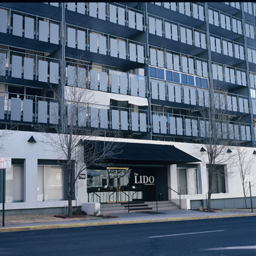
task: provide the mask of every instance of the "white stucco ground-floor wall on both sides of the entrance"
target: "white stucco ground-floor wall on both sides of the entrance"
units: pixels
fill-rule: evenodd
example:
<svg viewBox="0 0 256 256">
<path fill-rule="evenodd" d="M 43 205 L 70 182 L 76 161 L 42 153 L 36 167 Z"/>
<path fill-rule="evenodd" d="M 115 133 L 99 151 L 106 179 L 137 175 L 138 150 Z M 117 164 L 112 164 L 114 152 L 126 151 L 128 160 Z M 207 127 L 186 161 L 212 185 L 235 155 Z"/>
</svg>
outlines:
<svg viewBox="0 0 256 256">
<path fill-rule="evenodd" d="M 28 139 L 30 136 L 33 136 L 36 140 L 36 143 L 29 143 Z M 37 202 L 37 160 L 38 159 L 47 159 L 47 160 L 58 160 L 59 153 L 54 151 L 52 147 L 43 143 L 45 136 L 42 133 L 34 132 L 25 132 L 25 131 L 14 131 L 11 136 L 8 136 L 3 141 L 4 148 L 0 153 L 1 157 L 11 157 L 11 158 L 22 158 L 25 159 L 24 162 L 24 182 L 25 182 L 25 191 L 24 191 L 24 202 L 17 203 L 6 203 L 5 209 L 32 209 L 32 208 L 56 208 L 64 207 L 67 201 L 49 201 L 49 202 Z M 97 138 L 103 140 L 104 138 Z M 164 144 L 164 145 L 175 145 L 176 148 L 193 155 L 198 159 L 203 159 L 206 156 L 200 153 L 199 144 L 186 144 L 179 142 L 158 142 L 158 141 L 149 141 L 149 140 L 131 140 L 131 139 L 112 139 L 120 142 L 133 142 L 140 144 Z M 230 147 L 232 151 L 235 151 Z M 248 156 L 253 153 L 253 148 L 246 148 L 248 151 Z M 256 156 L 255 156 L 256 158 Z M 64 159 L 64 158 L 62 158 Z M 82 159 L 80 159 L 83 162 Z M 233 169 L 233 163 L 235 159 L 231 159 L 226 162 L 228 171 Z M 80 163 L 77 163 L 78 166 Z M 202 200 L 207 198 L 208 183 L 206 176 L 206 165 L 203 162 L 198 162 L 198 187 L 199 194 L 197 195 L 182 195 L 182 198 L 189 198 L 189 200 Z M 176 165 L 170 165 L 168 167 L 169 176 L 168 176 L 168 185 L 172 189 L 178 191 L 177 186 L 177 173 Z M 256 168 L 253 169 L 253 175 L 256 179 Z M 85 171 L 83 172 L 85 173 Z M 211 198 L 243 198 L 242 193 L 242 184 L 240 181 L 239 173 L 234 173 L 233 177 L 228 177 L 226 180 L 226 191 L 227 193 L 213 194 Z M 251 188 L 251 193 L 253 197 L 256 197 L 256 187 Z M 178 195 L 176 193 L 169 191 L 169 198 L 177 199 Z M 73 200 L 72 206 L 81 206 L 83 203 L 87 202 L 87 184 L 86 180 L 78 180 L 78 186 L 76 190 L 76 200 Z M 2 204 L 0 204 L 0 209 L 2 209 Z"/>
</svg>

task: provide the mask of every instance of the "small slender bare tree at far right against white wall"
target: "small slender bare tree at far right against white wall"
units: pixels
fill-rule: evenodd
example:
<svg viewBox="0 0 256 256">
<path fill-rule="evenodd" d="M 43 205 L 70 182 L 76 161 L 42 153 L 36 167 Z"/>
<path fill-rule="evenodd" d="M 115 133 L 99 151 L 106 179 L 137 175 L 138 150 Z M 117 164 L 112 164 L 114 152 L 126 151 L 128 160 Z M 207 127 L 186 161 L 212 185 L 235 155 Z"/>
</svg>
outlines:
<svg viewBox="0 0 256 256">
<path fill-rule="evenodd" d="M 246 176 L 251 176 L 253 173 L 253 167 L 255 167 L 255 156 L 248 153 L 248 149 L 245 147 L 236 147 L 237 150 L 237 161 L 235 165 L 240 175 L 240 180 L 242 182 L 242 191 L 244 193 L 244 203 L 247 208 L 246 197 L 248 195 L 249 181 Z M 255 186 L 256 182 L 253 180 L 251 187 Z"/>
</svg>

